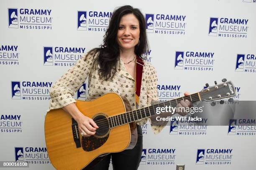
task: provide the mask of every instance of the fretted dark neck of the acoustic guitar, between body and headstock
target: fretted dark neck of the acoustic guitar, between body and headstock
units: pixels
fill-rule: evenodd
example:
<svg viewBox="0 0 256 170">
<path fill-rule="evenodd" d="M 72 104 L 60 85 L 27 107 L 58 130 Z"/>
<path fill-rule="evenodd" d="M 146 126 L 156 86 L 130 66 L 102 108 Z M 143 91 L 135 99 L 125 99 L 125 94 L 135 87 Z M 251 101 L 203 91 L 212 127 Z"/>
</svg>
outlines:
<svg viewBox="0 0 256 170">
<path fill-rule="evenodd" d="M 121 126 L 123 124 L 135 122 L 137 120 L 156 115 L 157 114 L 156 108 L 158 107 L 177 107 L 179 102 L 182 100 L 189 100 L 190 102 L 196 102 L 196 101 L 200 101 L 201 98 L 199 93 L 195 93 L 195 94 L 180 97 L 177 99 L 154 104 L 149 107 L 143 107 L 140 109 L 132 110 L 130 112 L 125 112 L 112 117 L 108 117 L 110 128 Z"/>
</svg>

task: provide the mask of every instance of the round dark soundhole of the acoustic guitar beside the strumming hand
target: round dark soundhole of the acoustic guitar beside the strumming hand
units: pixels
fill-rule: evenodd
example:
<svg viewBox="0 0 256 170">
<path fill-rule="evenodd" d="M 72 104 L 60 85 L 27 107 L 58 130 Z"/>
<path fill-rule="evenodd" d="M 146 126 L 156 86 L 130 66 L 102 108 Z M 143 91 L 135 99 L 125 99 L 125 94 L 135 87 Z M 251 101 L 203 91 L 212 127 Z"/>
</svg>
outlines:
<svg viewBox="0 0 256 170">
<path fill-rule="evenodd" d="M 95 133 L 94 136 L 95 137 L 105 137 L 108 134 L 109 130 L 110 130 L 110 127 L 109 127 L 109 124 L 108 124 L 108 118 L 105 117 L 104 115 L 100 114 L 100 115 L 97 115 L 96 117 L 94 117 L 93 121 L 99 127 L 96 130 L 96 133 Z"/>
</svg>

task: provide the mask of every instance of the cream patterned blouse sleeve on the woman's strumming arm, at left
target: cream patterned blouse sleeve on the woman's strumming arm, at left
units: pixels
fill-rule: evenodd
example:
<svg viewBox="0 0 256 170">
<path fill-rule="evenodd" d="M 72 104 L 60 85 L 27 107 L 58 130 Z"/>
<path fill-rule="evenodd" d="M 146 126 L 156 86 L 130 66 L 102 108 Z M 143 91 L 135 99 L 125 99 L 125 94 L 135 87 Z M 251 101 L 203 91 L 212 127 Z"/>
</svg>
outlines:
<svg viewBox="0 0 256 170">
<path fill-rule="evenodd" d="M 59 109 L 76 102 L 72 97 L 82 86 L 91 72 L 94 56 L 92 52 L 84 54 L 77 63 L 59 78 L 50 90 L 51 109 Z M 48 110 L 48 111 L 49 111 Z"/>
</svg>

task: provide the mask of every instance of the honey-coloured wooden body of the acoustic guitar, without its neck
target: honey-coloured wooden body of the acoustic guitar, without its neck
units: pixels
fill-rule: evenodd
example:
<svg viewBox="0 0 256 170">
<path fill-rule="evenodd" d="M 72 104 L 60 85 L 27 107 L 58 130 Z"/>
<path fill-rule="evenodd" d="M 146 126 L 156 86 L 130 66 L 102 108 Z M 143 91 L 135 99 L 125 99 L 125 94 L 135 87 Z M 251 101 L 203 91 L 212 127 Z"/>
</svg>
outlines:
<svg viewBox="0 0 256 170">
<path fill-rule="evenodd" d="M 104 117 L 106 121 L 108 116 L 131 110 L 124 98 L 109 93 L 92 101 L 77 101 L 76 105 L 82 114 L 94 119 L 99 129 L 95 136 L 82 137 L 70 114 L 63 109 L 49 111 L 44 126 L 46 147 L 51 163 L 57 170 L 86 169 L 108 153 L 132 149 L 136 145 L 135 122 L 112 129 L 100 123 Z"/>
</svg>

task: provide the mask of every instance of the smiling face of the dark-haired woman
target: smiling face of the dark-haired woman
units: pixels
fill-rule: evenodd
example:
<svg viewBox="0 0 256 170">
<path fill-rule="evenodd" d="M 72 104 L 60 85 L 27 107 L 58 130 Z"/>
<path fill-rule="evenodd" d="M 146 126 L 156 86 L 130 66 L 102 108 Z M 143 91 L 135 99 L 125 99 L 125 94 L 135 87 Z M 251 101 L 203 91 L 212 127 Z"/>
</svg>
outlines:
<svg viewBox="0 0 256 170">
<path fill-rule="evenodd" d="M 140 38 L 139 21 L 133 14 L 123 15 L 120 20 L 117 41 L 122 50 L 131 50 L 138 44 Z"/>
</svg>

